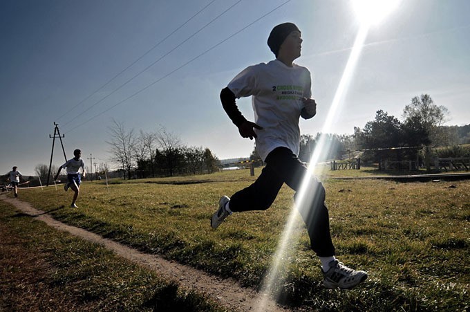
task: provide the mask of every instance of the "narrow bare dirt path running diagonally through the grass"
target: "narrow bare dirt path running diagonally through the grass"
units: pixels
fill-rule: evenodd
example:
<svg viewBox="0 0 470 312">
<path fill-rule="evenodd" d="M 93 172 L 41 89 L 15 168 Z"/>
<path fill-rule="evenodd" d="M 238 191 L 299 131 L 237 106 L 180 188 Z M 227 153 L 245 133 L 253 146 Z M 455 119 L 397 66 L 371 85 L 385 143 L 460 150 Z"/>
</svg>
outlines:
<svg viewBox="0 0 470 312">
<path fill-rule="evenodd" d="M 57 230 L 69 232 L 87 241 L 102 244 L 106 248 L 113 250 L 117 255 L 149 268 L 164 278 L 178 282 L 183 288 L 206 293 L 213 300 L 232 311 L 288 311 L 275 304 L 273 300 L 270 300 L 265 295 L 257 293 L 254 289 L 239 286 L 234 279 L 221 279 L 220 277 L 208 275 L 201 270 L 168 261 L 158 255 L 142 253 L 82 228 L 68 226 L 53 219 L 46 212 L 33 208 L 24 201 L 11 199 L 4 195 L 1 195 L 0 199 L 14 205 L 17 209 L 31 217 L 44 221 L 48 226 Z M 263 308 L 259 308 L 260 302 L 263 302 Z"/>
</svg>

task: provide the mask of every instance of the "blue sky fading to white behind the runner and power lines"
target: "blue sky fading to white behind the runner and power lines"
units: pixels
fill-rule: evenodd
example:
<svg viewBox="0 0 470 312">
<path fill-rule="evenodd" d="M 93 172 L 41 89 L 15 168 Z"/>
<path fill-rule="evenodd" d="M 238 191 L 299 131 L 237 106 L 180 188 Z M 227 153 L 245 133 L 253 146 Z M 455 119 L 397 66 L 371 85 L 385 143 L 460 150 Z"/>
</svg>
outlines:
<svg viewBox="0 0 470 312">
<path fill-rule="evenodd" d="M 318 104 L 317 116 L 302 120 L 301 131 L 317 134 L 359 20 L 348 0 L 285 2 L 1 1 L 0 172 L 17 165 L 29 175 L 36 165 L 48 165 L 53 122 L 65 135 L 68 158 L 80 148 L 85 160 L 92 154 L 95 162 L 111 165 L 106 140 L 113 118 L 135 131 L 164 127 L 182 143 L 209 147 L 220 159 L 249 156 L 254 142 L 238 135 L 218 94 L 246 66 L 274 58 L 267 36 L 285 21 L 302 31 L 296 62 L 310 68 Z M 405 105 L 422 93 L 449 109 L 446 125 L 470 123 L 469 15 L 467 0 L 406 0 L 370 28 L 332 132 L 352 134 L 379 109 L 400 119 Z M 238 104 L 252 120 L 250 99 Z M 55 165 L 63 158 L 56 144 Z"/>
</svg>

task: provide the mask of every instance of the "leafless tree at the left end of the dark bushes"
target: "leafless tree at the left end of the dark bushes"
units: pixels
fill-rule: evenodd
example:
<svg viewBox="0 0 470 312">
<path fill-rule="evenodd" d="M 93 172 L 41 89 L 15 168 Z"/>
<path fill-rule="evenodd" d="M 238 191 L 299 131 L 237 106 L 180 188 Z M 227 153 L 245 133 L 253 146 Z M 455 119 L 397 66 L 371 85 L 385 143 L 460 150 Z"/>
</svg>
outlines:
<svg viewBox="0 0 470 312">
<path fill-rule="evenodd" d="M 126 131 L 124 122 L 118 122 L 113 119 L 113 125 L 109 127 L 111 131 L 111 140 L 108 143 L 111 146 L 112 160 L 120 164 L 124 170 L 124 178 L 131 178 L 131 170 L 135 162 L 135 143 L 136 137 L 134 129 Z"/>
</svg>

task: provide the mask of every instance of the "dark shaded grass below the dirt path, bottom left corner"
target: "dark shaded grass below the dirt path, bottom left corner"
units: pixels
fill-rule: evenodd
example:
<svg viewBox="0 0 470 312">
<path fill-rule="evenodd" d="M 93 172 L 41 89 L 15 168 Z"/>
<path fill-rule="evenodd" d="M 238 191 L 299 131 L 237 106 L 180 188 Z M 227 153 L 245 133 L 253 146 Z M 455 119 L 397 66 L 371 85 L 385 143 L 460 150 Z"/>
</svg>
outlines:
<svg viewBox="0 0 470 312">
<path fill-rule="evenodd" d="M 0 201 L 0 311 L 224 311 Z"/>
</svg>

